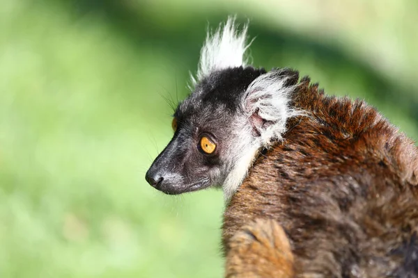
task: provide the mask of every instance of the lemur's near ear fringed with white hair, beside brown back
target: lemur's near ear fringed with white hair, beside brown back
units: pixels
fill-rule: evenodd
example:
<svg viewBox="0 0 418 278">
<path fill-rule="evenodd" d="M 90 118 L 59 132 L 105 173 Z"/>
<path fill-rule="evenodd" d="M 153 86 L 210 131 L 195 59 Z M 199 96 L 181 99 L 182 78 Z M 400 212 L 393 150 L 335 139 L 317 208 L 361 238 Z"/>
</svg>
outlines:
<svg viewBox="0 0 418 278">
<path fill-rule="evenodd" d="M 300 115 L 291 107 L 299 73 L 293 70 L 271 70 L 258 76 L 247 88 L 243 104 L 254 136 L 268 146 L 272 140 L 281 140 L 286 132 L 286 121 Z"/>
</svg>

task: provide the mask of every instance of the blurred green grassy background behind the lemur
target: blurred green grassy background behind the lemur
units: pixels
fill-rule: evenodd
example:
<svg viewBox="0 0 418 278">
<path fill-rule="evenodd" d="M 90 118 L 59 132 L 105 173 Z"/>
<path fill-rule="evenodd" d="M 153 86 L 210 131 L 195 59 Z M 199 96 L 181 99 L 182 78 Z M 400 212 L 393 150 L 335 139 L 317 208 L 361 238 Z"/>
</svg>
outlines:
<svg viewBox="0 0 418 278">
<path fill-rule="evenodd" d="M 418 138 L 418 2 L 3 0 L 0 277 L 222 277 L 222 193 L 144 181 L 206 28 Z"/>
</svg>

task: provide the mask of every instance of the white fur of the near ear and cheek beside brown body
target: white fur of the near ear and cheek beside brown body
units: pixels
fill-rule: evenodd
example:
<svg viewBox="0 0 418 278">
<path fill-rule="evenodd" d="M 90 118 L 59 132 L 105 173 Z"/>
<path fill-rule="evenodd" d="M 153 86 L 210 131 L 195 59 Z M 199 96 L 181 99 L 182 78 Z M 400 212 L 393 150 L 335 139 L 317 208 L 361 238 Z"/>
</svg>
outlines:
<svg viewBox="0 0 418 278">
<path fill-rule="evenodd" d="M 248 170 L 257 158 L 258 151 L 269 147 L 273 142 L 283 140 L 286 132 L 286 122 L 289 118 L 304 115 L 289 105 L 291 93 L 297 85 L 286 85 L 288 76 L 281 75 L 281 71 L 272 70 L 259 76 L 247 88 L 242 99 L 242 110 L 247 112 L 245 126 L 241 126 L 237 141 L 242 142 L 236 146 L 241 151 L 235 158 L 235 165 L 224 181 L 224 199 L 229 199 L 238 190 L 242 181 L 247 177 Z M 258 126 L 260 136 L 252 134 L 251 116 L 258 114 L 267 124 Z"/>
</svg>

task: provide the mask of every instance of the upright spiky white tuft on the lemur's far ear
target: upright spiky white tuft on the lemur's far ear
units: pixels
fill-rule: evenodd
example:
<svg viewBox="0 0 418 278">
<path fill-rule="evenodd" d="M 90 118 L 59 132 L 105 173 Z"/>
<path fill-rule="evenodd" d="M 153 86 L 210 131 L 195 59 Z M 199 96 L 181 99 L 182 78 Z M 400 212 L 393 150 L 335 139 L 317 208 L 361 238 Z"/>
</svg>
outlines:
<svg viewBox="0 0 418 278">
<path fill-rule="evenodd" d="M 242 27 L 238 33 L 235 26 L 235 17 L 229 17 L 226 24 L 217 28 L 214 34 L 208 30 L 206 42 L 201 49 L 199 68 L 196 78 L 191 74 L 192 85 L 196 85 L 201 79 L 215 70 L 223 70 L 229 67 L 245 67 L 245 51 L 248 25 Z"/>
</svg>

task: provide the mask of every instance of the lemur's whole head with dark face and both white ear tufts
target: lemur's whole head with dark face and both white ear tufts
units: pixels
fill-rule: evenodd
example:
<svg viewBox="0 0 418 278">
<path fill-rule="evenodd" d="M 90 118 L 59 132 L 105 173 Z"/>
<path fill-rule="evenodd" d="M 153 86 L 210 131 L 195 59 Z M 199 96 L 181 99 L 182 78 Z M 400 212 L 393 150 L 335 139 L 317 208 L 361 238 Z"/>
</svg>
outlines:
<svg viewBox="0 0 418 278">
<path fill-rule="evenodd" d="M 299 114 L 290 106 L 297 73 L 246 65 L 246 36 L 233 18 L 208 32 L 192 93 L 173 115 L 174 136 L 146 173 L 151 186 L 167 194 L 222 186 L 230 199 L 258 151 Z"/>
</svg>

